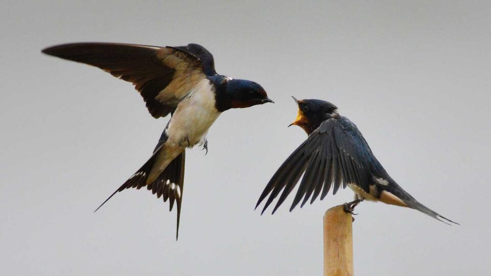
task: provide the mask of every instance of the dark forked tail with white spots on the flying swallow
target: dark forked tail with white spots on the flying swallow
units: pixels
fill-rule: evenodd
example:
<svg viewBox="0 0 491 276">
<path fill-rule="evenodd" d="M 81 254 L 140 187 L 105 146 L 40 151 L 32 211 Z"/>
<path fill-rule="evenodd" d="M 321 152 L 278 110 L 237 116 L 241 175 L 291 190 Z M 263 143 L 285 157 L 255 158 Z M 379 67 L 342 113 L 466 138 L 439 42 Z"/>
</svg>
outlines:
<svg viewBox="0 0 491 276">
<path fill-rule="evenodd" d="M 146 186 L 147 190 L 152 191 L 152 194 L 157 194 L 157 197 L 164 199 L 164 202 L 169 200 L 169 211 L 172 211 L 174 202 L 177 205 L 177 224 L 175 239 L 179 236 L 179 221 L 181 218 L 181 203 L 184 187 L 184 163 L 186 158 L 186 152 L 183 151 L 180 155 L 175 157 L 172 162 L 165 168 L 165 170 L 151 183 L 147 184 L 147 178 L 152 170 L 157 155 L 160 150 L 164 150 L 163 147 L 155 150 L 154 154 L 135 174 L 133 174 L 126 182 L 121 185 L 113 194 L 111 194 L 102 204 L 94 211 L 104 205 L 111 197 L 116 193 L 121 192 L 129 188 L 137 188 L 137 190 Z"/>
</svg>

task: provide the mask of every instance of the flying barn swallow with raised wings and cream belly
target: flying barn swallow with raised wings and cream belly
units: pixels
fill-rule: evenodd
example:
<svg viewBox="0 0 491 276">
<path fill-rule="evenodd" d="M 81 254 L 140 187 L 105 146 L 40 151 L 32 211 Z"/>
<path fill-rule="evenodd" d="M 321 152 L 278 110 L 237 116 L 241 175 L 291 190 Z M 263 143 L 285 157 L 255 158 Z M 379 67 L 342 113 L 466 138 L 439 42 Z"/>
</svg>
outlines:
<svg viewBox="0 0 491 276">
<path fill-rule="evenodd" d="M 146 187 L 177 205 L 179 232 L 186 148 L 203 145 L 218 116 L 231 108 L 273 103 L 261 85 L 218 75 L 213 55 L 198 44 L 155 47 L 125 43 L 70 43 L 42 50 L 44 54 L 86 63 L 135 85 L 151 116 L 171 118 L 148 161 L 117 192 Z M 97 208 L 96 211 L 99 209 Z M 95 211 L 94 211 L 95 212 Z"/>
</svg>

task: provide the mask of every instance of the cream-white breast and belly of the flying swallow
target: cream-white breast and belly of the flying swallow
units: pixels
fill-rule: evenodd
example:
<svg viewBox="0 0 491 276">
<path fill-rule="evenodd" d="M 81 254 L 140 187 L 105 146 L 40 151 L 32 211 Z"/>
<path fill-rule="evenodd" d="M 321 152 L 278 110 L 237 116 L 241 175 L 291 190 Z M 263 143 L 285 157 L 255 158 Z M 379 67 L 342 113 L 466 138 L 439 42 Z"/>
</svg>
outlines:
<svg viewBox="0 0 491 276">
<path fill-rule="evenodd" d="M 177 106 L 169 123 L 168 141 L 185 147 L 203 142 L 221 112 L 215 107 L 215 93 L 208 80 L 201 81 Z"/>
</svg>

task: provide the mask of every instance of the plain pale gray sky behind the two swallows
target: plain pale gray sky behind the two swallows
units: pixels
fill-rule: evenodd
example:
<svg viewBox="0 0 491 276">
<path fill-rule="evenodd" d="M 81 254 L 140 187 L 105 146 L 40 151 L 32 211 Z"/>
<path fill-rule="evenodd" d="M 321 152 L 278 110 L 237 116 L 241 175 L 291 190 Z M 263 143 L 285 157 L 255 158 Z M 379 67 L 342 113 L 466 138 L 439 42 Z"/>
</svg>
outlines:
<svg viewBox="0 0 491 276">
<path fill-rule="evenodd" d="M 247 3 L 246 3 L 247 2 Z M 491 4 L 429 1 L 4 1 L 0 8 L 0 267 L 5 275 L 321 275 L 336 196 L 254 212 L 305 138 L 290 98 L 320 98 L 362 131 L 391 176 L 448 226 L 362 203 L 356 275 L 484 275 L 491 246 Z M 175 211 L 146 190 L 93 210 L 150 156 L 154 120 L 131 84 L 42 55 L 75 41 L 183 45 L 275 105 L 230 110 L 209 153 L 188 150 Z M 271 210 L 270 210 L 271 212 Z"/>
</svg>

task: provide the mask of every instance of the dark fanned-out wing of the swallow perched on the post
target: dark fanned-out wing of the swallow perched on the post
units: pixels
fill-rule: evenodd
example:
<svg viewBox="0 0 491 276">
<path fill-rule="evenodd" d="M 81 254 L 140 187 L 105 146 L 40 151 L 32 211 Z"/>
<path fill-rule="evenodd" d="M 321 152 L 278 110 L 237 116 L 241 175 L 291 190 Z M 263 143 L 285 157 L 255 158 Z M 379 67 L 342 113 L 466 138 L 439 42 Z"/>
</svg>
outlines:
<svg viewBox="0 0 491 276">
<path fill-rule="evenodd" d="M 262 213 L 281 193 L 273 213 L 283 203 L 303 174 L 292 211 L 303 197 L 301 206 L 321 194 L 321 200 L 332 187 L 333 194 L 342 186 L 355 185 L 369 192 L 370 149 L 359 132 L 347 129 L 337 119 L 324 121 L 280 166 L 262 192 L 257 206 L 270 195 Z M 321 193 L 322 192 L 322 193 Z M 262 214 L 261 213 L 261 214 Z"/>
</svg>

